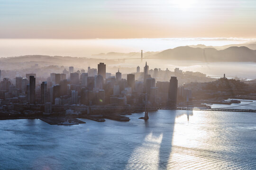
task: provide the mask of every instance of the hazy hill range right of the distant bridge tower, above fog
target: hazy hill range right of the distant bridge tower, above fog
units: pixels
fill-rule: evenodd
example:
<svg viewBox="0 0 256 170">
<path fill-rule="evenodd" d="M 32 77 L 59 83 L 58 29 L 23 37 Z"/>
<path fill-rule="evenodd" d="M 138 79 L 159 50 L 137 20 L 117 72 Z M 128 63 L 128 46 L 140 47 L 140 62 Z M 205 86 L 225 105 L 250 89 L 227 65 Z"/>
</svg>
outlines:
<svg viewBox="0 0 256 170">
<path fill-rule="evenodd" d="M 151 58 L 196 60 L 204 62 L 256 62 L 256 51 L 247 47 L 229 47 L 224 50 L 215 48 L 177 47 L 159 52 Z"/>
</svg>

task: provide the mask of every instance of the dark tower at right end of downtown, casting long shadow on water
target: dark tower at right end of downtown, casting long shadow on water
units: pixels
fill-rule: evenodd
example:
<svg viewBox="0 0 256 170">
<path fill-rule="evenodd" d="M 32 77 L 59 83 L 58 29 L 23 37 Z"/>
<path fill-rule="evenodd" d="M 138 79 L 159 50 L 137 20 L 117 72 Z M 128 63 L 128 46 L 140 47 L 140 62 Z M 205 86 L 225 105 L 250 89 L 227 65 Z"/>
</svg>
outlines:
<svg viewBox="0 0 256 170">
<path fill-rule="evenodd" d="M 169 85 L 169 104 L 175 108 L 177 104 L 178 80 L 177 77 L 172 76 Z"/>
</svg>

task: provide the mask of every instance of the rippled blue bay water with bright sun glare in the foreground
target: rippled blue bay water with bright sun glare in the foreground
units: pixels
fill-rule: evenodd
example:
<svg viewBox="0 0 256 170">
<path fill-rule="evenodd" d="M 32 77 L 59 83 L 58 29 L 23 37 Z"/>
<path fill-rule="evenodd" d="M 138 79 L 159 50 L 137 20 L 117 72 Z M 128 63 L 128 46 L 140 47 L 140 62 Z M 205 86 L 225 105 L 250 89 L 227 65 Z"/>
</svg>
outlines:
<svg viewBox="0 0 256 170">
<path fill-rule="evenodd" d="M 0 169 L 255 170 L 256 113 L 158 110 L 73 126 L 0 120 Z"/>
</svg>

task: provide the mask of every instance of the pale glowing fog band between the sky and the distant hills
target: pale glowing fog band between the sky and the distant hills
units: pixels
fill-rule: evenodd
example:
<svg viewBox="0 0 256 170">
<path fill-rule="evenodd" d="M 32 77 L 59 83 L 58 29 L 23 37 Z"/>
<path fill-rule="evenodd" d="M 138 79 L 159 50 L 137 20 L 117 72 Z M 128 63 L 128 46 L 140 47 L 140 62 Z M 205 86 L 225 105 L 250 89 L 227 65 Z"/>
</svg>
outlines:
<svg viewBox="0 0 256 170">
<path fill-rule="evenodd" d="M 107 52 L 162 51 L 186 45 L 222 46 L 253 42 L 245 38 L 134 38 L 134 39 L 0 39 L 0 57 L 58 55 L 91 57 Z"/>
</svg>

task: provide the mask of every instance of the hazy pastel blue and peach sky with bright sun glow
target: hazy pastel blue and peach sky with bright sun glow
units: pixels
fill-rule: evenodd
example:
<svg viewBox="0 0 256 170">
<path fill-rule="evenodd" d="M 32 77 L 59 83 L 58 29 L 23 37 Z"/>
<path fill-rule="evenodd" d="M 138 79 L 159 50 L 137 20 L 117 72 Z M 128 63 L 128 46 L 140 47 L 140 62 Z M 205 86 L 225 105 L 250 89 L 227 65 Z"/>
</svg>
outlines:
<svg viewBox="0 0 256 170">
<path fill-rule="evenodd" d="M 256 38 L 256 0 L 0 0 L 0 38 Z"/>
</svg>

